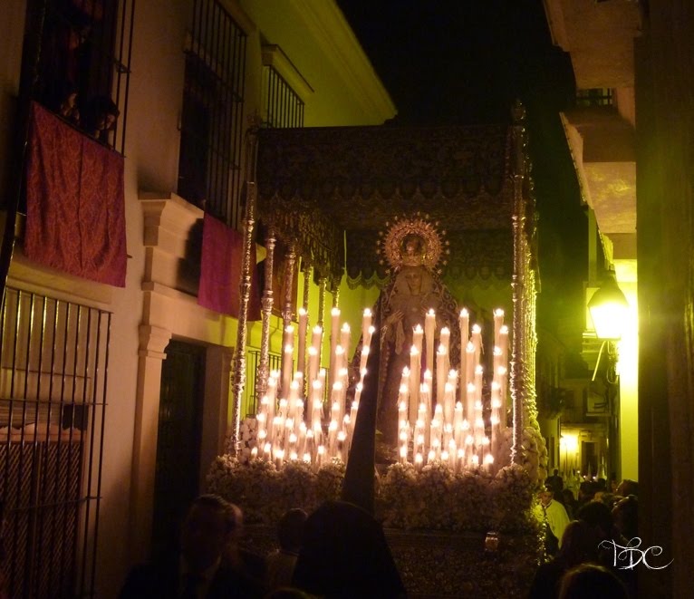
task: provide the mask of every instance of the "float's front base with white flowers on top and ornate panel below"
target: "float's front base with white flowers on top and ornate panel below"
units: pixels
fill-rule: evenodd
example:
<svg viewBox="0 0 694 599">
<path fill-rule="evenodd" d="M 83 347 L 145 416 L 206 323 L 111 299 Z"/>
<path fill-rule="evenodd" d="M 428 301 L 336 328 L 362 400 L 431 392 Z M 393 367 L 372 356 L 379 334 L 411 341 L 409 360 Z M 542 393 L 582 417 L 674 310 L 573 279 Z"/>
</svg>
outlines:
<svg viewBox="0 0 694 599">
<path fill-rule="evenodd" d="M 542 556 L 535 479 L 527 469 L 455 472 L 434 461 L 421 469 L 392 464 L 375 476 L 375 516 L 409 597 L 526 596 Z M 207 488 L 243 509 L 246 546 L 266 555 L 284 511 L 311 513 L 340 498 L 343 477 L 337 459 L 320 469 L 304 462 L 277 469 L 225 455 L 212 464 Z"/>
</svg>

